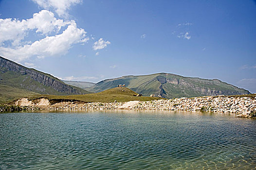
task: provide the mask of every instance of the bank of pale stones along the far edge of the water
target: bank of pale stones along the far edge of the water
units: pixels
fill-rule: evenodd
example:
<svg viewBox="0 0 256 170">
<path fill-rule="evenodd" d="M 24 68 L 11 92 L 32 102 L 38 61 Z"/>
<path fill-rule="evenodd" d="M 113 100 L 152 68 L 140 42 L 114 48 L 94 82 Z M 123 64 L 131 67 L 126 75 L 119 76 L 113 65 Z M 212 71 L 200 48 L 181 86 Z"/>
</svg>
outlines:
<svg viewBox="0 0 256 170">
<path fill-rule="evenodd" d="M 36 101 L 36 102 L 35 102 Z M 19 99 L 15 105 L 20 110 L 182 110 L 234 113 L 237 117 L 256 117 L 256 97 L 205 96 L 195 98 L 179 98 L 170 100 L 154 100 L 147 102 L 57 102 L 51 104 L 48 99 L 41 98 L 29 101 Z M 10 107 L 10 106 L 9 106 Z M 0 111 L 3 109 L 0 108 Z"/>
</svg>

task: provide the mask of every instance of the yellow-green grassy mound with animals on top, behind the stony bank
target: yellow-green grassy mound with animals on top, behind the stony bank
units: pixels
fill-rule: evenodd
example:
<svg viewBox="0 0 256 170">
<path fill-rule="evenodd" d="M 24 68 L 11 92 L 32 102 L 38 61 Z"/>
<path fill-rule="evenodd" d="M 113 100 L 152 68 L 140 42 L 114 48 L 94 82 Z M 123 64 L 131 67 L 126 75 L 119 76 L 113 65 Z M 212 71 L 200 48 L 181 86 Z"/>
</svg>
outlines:
<svg viewBox="0 0 256 170">
<path fill-rule="evenodd" d="M 124 90 L 124 91 L 123 91 Z M 162 98 L 152 98 L 152 97 L 135 97 L 133 94 L 136 92 L 126 88 L 126 87 L 116 87 L 109 90 L 105 90 L 99 93 L 84 94 L 84 95 L 69 95 L 69 96 L 56 96 L 56 95 L 37 95 L 31 97 L 30 99 L 36 99 L 39 97 L 45 97 L 49 100 L 62 99 L 62 100 L 79 100 L 83 102 L 128 102 L 128 101 L 151 101 L 158 100 Z"/>
</svg>

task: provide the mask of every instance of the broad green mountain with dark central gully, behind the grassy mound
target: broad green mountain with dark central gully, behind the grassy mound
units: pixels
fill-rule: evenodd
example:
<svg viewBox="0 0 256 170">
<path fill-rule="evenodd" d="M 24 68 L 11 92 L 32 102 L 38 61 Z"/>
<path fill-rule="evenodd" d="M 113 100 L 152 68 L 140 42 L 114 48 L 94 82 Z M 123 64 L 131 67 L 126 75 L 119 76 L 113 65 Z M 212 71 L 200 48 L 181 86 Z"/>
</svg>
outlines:
<svg viewBox="0 0 256 170">
<path fill-rule="evenodd" d="M 116 85 L 123 85 L 131 90 L 150 96 L 161 95 L 167 99 L 180 97 L 198 97 L 213 95 L 250 94 L 248 90 L 221 82 L 218 79 L 208 80 L 201 78 L 183 77 L 170 73 L 157 73 L 141 76 L 123 76 L 101 81 L 90 88 L 92 92 L 107 90 Z"/>
</svg>

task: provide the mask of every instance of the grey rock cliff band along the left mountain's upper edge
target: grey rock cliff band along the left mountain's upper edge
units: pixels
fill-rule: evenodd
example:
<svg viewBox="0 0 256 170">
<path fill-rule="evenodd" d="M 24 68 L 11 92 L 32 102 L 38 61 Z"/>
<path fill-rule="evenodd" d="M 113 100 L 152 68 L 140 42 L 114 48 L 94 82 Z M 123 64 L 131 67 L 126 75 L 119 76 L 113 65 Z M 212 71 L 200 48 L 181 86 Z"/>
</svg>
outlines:
<svg viewBox="0 0 256 170">
<path fill-rule="evenodd" d="M 63 93 L 63 94 L 85 94 L 86 91 L 72 87 L 70 85 L 66 85 L 62 81 L 57 78 L 37 71 L 35 69 L 29 69 L 23 67 L 13 61 L 7 60 L 5 58 L 0 57 L 0 67 L 7 68 L 9 71 L 14 71 L 20 73 L 22 75 L 29 75 L 32 80 L 39 82 L 42 85 L 53 88 L 54 90 Z"/>
</svg>

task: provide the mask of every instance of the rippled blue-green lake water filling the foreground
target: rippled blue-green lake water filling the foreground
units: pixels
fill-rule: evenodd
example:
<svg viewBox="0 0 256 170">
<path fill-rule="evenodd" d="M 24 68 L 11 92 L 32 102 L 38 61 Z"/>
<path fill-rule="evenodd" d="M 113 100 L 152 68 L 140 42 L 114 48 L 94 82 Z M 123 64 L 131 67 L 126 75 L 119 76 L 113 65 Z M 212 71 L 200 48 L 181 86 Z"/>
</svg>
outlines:
<svg viewBox="0 0 256 170">
<path fill-rule="evenodd" d="M 190 112 L 0 114 L 0 170 L 255 170 L 256 119 Z"/>
</svg>

